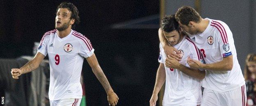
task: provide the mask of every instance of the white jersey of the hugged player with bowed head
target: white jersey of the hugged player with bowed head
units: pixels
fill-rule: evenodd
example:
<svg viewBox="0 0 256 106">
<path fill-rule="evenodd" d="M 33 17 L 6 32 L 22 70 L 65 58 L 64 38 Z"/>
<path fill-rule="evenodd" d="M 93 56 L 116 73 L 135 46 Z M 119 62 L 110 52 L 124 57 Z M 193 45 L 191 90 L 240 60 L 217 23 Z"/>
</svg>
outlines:
<svg viewBox="0 0 256 106">
<path fill-rule="evenodd" d="M 202 60 L 199 49 L 190 40 L 184 36 L 182 41 L 174 47 L 181 53 L 181 64 L 189 67 L 187 57 L 194 60 Z M 166 55 L 162 44 L 160 43 L 160 56 L 158 62 L 165 64 Z M 186 75 L 178 69 L 171 69 L 165 65 L 165 94 L 162 101 L 164 106 L 183 106 L 201 104 L 201 80 Z"/>
</svg>

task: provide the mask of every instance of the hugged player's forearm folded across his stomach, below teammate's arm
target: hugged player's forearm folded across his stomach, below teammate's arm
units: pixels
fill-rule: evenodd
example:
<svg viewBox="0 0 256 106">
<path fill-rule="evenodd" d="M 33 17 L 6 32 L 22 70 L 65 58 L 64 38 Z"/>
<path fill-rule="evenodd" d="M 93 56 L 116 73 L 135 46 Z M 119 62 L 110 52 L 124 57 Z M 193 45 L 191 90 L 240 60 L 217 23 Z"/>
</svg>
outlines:
<svg viewBox="0 0 256 106">
<path fill-rule="evenodd" d="M 200 80 L 202 80 L 205 77 L 205 71 L 199 71 L 197 69 L 188 68 L 182 64 L 179 65 L 178 70 Z"/>
</svg>

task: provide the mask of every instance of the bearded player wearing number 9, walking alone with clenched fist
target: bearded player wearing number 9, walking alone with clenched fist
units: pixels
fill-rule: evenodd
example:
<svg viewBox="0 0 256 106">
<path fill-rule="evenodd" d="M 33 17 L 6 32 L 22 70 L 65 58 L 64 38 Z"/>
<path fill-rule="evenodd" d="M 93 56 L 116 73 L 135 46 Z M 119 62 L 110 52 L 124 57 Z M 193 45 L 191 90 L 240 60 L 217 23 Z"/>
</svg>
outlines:
<svg viewBox="0 0 256 106">
<path fill-rule="evenodd" d="M 69 2 L 57 7 L 55 30 L 41 39 L 35 57 L 21 68 L 11 69 L 14 79 L 38 68 L 48 54 L 50 62 L 49 99 L 51 106 L 79 106 L 82 98 L 80 76 L 84 58 L 103 85 L 109 105 L 115 106 L 118 97 L 105 77 L 89 39 L 72 30 L 80 22 L 78 9 Z"/>
</svg>

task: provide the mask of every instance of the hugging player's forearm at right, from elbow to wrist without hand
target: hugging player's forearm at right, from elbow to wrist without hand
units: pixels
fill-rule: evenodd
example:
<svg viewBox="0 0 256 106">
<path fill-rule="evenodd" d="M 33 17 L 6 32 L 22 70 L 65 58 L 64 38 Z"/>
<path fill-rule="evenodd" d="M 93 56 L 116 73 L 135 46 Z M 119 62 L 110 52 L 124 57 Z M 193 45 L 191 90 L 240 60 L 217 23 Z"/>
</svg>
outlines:
<svg viewBox="0 0 256 106">
<path fill-rule="evenodd" d="M 233 57 L 225 57 L 222 61 L 213 64 L 204 64 L 202 68 L 211 71 L 231 71 L 233 68 Z"/>
</svg>

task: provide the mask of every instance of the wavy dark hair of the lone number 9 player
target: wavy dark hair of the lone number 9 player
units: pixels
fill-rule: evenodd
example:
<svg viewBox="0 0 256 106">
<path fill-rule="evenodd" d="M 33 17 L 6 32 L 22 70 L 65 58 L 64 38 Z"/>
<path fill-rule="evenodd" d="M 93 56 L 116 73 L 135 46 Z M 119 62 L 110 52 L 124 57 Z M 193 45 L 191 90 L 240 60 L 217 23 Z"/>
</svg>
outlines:
<svg viewBox="0 0 256 106">
<path fill-rule="evenodd" d="M 78 9 L 75 7 L 75 5 L 70 2 L 62 2 L 57 7 L 57 11 L 59 8 L 64 8 L 71 11 L 70 19 L 75 19 L 75 23 L 72 24 L 72 29 L 75 29 L 75 26 L 80 23 L 80 17 L 78 16 L 79 12 L 78 12 Z"/>
</svg>

